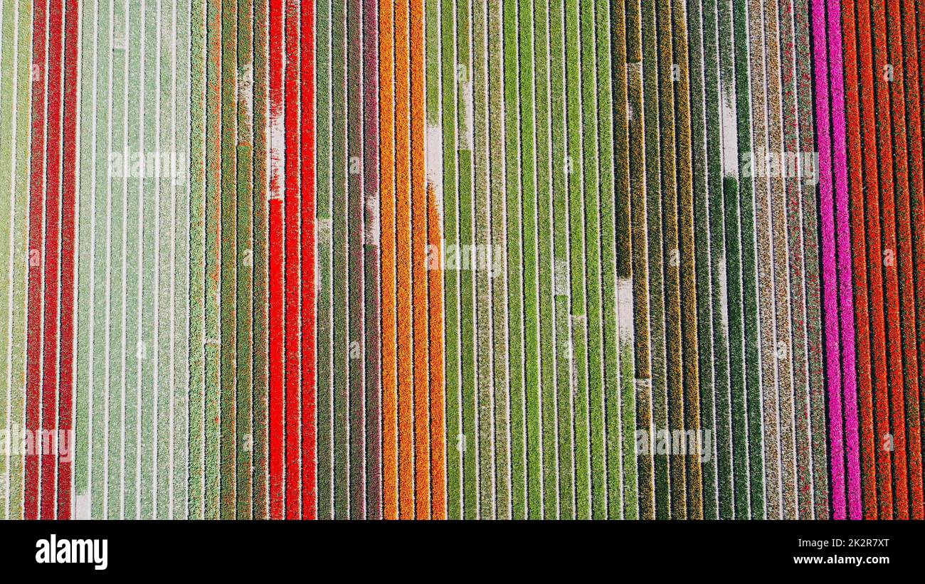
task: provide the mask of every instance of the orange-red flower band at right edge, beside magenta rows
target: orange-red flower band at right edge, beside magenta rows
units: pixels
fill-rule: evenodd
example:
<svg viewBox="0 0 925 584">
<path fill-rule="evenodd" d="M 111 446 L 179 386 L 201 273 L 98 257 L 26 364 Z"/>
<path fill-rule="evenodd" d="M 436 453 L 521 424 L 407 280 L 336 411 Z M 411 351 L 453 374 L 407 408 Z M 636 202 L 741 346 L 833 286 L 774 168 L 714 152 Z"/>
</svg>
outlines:
<svg viewBox="0 0 925 584">
<path fill-rule="evenodd" d="M 832 30 L 839 3 L 828 4 Z M 833 493 L 833 517 L 923 517 L 917 316 L 925 293 L 919 91 L 925 19 L 912 4 L 900 5 L 858 0 L 840 8 L 860 410 L 857 432 L 846 425 L 845 440 L 860 439 L 859 463 L 850 444 L 846 456 L 849 469 L 859 464 L 863 505 L 845 508 L 845 483 L 833 474 L 833 486 L 842 489 Z M 856 494 L 850 486 L 849 504 Z"/>
</svg>

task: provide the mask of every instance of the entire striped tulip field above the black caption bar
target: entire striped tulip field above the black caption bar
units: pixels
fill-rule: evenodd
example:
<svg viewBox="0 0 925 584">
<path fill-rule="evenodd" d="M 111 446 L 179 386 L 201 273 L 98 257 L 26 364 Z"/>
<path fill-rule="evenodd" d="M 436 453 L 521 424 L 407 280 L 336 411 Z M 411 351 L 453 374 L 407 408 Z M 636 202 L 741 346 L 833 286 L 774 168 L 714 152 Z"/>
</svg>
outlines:
<svg viewBox="0 0 925 584">
<path fill-rule="evenodd" d="M 0 30 L 0 517 L 925 518 L 915 0 Z"/>
</svg>

